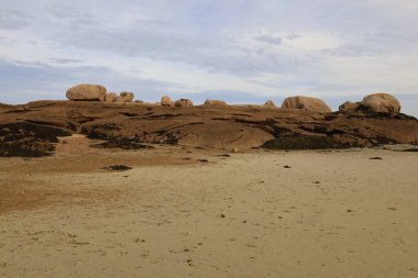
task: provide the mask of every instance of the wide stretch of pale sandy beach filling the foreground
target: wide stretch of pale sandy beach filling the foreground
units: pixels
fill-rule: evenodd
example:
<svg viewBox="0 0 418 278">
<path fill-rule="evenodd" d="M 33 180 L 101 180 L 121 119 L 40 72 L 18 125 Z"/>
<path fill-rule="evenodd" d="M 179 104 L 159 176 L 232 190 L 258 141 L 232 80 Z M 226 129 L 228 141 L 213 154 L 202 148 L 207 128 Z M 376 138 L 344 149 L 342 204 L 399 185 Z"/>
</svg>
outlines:
<svg viewBox="0 0 418 278">
<path fill-rule="evenodd" d="M 0 277 L 418 277 L 416 153 L 89 144 L 0 158 Z"/>
</svg>

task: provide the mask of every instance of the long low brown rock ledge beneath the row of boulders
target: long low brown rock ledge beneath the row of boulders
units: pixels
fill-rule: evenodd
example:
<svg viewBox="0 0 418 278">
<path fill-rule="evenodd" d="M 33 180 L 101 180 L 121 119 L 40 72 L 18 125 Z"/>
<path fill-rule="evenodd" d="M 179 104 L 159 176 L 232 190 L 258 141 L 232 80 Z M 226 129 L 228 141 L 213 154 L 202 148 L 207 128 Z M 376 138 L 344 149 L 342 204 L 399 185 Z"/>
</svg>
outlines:
<svg viewBox="0 0 418 278">
<path fill-rule="evenodd" d="M 140 146 L 178 144 L 215 149 L 304 149 L 418 144 L 418 120 L 405 114 L 318 113 L 260 105 L 109 105 L 88 101 L 36 101 L 0 110 L 0 156 L 43 156 L 56 136 Z"/>
</svg>

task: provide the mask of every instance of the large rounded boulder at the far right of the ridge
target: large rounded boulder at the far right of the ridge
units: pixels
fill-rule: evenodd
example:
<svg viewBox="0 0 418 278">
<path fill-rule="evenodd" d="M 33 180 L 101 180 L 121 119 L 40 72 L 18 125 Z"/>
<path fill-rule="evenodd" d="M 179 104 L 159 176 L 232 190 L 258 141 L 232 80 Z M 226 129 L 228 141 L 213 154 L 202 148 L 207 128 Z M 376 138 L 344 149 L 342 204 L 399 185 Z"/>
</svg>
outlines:
<svg viewBox="0 0 418 278">
<path fill-rule="evenodd" d="M 363 99 L 362 105 L 374 113 L 397 114 L 400 112 L 399 101 L 385 92 L 369 94 Z"/>
</svg>

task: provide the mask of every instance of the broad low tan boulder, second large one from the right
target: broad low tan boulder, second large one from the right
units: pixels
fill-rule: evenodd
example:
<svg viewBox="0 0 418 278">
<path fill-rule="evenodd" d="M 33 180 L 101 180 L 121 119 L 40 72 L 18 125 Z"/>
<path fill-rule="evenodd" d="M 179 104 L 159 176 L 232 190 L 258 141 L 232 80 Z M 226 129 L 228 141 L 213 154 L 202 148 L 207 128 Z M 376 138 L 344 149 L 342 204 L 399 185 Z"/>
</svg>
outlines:
<svg viewBox="0 0 418 278">
<path fill-rule="evenodd" d="M 283 109 L 305 109 L 307 111 L 319 112 L 319 113 L 332 112 L 331 108 L 327 105 L 327 103 L 323 102 L 323 100 L 318 99 L 318 98 L 311 98 L 311 97 L 302 97 L 302 96 L 286 98 L 282 103 L 282 108 Z"/>
</svg>

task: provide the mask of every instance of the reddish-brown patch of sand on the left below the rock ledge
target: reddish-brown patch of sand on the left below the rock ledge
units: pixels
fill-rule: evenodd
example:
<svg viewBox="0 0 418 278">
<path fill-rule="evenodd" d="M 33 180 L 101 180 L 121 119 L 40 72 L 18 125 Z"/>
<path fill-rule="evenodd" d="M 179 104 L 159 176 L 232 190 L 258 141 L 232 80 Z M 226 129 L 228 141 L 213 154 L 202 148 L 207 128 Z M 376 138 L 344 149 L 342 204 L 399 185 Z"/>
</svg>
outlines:
<svg viewBox="0 0 418 278">
<path fill-rule="evenodd" d="M 55 144 L 56 152 L 53 156 L 40 158 L 0 158 L 1 187 L 0 187 L 0 213 L 12 210 L 34 209 L 51 204 L 63 203 L 90 203 L 107 202 L 125 196 L 125 190 L 118 189 L 94 190 L 89 188 L 75 189 L 52 186 L 48 175 L 68 175 L 111 171 L 103 168 L 112 165 L 162 166 L 162 165 L 199 165 L 199 159 L 207 157 L 208 151 L 185 148 L 176 146 L 157 146 L 155 148 L 141 148 L 138 151 L 124 151 L 120 148 L 96 148 L 92 145 L 102 141 L 88 140 L 85 135 L 59 137 Z M 217 160 L 218 152 L 209 152 Z M 221 153 L 220 153 L 221 154 Z M 120 173 L 127 176 L 127 173 Z"/>
</svg>

